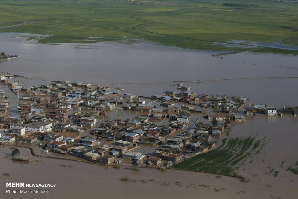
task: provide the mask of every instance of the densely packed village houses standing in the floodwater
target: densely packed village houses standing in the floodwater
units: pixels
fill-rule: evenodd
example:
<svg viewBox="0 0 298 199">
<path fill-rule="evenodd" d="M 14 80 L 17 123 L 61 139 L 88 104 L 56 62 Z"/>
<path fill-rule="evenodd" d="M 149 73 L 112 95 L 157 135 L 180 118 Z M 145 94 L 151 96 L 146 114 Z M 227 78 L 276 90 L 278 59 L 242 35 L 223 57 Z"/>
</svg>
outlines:
<svg viewBox="0 0 298 199">
<path fill-rule="evenodd" d="M 11 78 L 11 75 L 1 75 L 1 82 Z M 237 112 L 244 107 L 246 98 L 196 96 L 183 84 L 177 87 L 181 92 L 167 90 L 164 94 L 148 97 L 150 102 L 146 103 L 145 97 L 134 93 L 124 93 L 122 98 L 120 90 L 81 81 L 55 81 L 39 87 L 21 87 L 17 83 L 8 84 L 10 82 L 5 84 L 21 97 L 17 114 L 11 116 L 7 112 L 6 93 L 0 92 L 0 111 L 3 110 L 0 114 L 7 122 L 7 125 L 0 124 L 0 142 L 36 144 L 45 151 L 101 164 L 120 163 L 122 158 L 138 166 L 170 166 L 214 148 L 229 127 L 224 124 L 226 115 L 233 115 L 235 124 L 245 121 Z M 119 98 L 114 100 L 116 96 Z M 158 103 L 154 103 L 156 101 Z M 117 104 L 123 105 L 118 109 Z M 227 114 L 207 115 L 208 121 L 215 118 L 218 124 L 191 122 L 190 112 L 195 111 L 195 105 Z M 137 115 L 126 120 L 106 120 L 108 112 L 114 109 L 116 114 L 131 110 Z M 293 111 L 295 114 L 295 107 L 280 109 L 283 114 Z M 244 108 L 247 115 L 278 115 L 278 112 L 274 107 L 261 104 L 249 104 Z M 143 144 L 155 150 L 134 152 Z"/>
</svg>

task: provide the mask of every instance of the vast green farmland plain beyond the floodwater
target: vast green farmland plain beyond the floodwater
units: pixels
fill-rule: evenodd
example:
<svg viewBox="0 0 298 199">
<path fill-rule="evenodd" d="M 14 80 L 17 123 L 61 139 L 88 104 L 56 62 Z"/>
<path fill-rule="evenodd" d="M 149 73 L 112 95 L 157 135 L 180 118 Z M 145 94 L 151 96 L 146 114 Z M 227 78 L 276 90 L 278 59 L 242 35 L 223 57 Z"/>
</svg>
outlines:
<svg viewBox="0 0 298 199">
<path fill-rule="evenodd" d="M 298 55 L 297 50 L 245 42 L 298 47 L 298 28 L 294 27 L 298 27 L 298 3 L 290 2 L 0 1 L 0 32 L 51 35 L 39 43 L 130 42 L 138 38 L 186 49 Z"/>
</svg>

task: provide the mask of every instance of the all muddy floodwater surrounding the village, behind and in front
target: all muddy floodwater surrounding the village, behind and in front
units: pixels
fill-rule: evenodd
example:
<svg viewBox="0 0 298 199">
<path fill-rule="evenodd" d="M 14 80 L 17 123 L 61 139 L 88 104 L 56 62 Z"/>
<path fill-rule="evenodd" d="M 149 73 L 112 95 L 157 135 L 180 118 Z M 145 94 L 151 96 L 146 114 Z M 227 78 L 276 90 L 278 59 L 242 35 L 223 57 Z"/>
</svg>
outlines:
<svg viewBox="0 0 298 199">
<path fill-rule="evenodd" d="M 48 84 L 50 80 L 77 80 L 114 87 L 120 84 L 125 92 L 150 96 L 176 89 L 173 85 L 181 81 L 198 94 L 245 96 L 249 98 L 248 102 L 276 107 L 297 105 L 297 56 L 240 53 L 220 59 L 212 57 L 211 52 L 148 43 L 44 45 L 24 42 L 24 37 L 12 38 L 12 35 L 0 34 L 1 51 L 21 57 L 0 62 L 0 69 L 34 78 L 21 78 L 21 83 L 26 83 L 26 86 Z M 16 96 L 4 85 L 0 88 L 7 91 L 11 105 L 15 106 Z M 129 114 L 115 115 L 110 112 L 108 116 L 109 119 L 126 119 L 137 113 L 132 111 Z M 193 117 L 198 116 L 195 114 Z M 207 122 L 203 118 L 200 121 Z M 245 125 L 232 127 L 228 137 L 255 136 L 256 140 L 265 138 L 268 141 L 250 163 L 246 162 L 237 171 L 250 179 L 247 183 L 236 178 L 216 178 L 216 175 L 199 172 L 161 172 L 157 169 L 136 172 L 125 169 L 127 166 L 114 169 L 110 166 L 37 158 L 31 156 L 29 149 L 19 148 L 21 155 L 41 160 L 27 165 L 5 158 L 12 149 L 1 147 L 0 170 L 11 175 L 0 176 L 0 192 L 4 198 L 19 197 L 18 194 L 5 194 L 5 183 L 24 182 L 57 184 L 55 188 L 49 188 L 47 195 L 24 194 L 24 198 L 297 198 L 294 190 L 298 177 L 286 171 L 298 160 L 297 125 L 297 118 L 294 117 L 256 115 L 249 117 Z M 136 151 L 144 152 L 145 149 L 143 146 Z M 151 147 L 147 149 L 153 150 Z M 62 164 L 66 167 L 60 166 Z M 269 175 L 269 168 L 279 171 L 278 176 Z M 121 181 L 120 178 L 124 176 L 136 182 Z M 148 179 L 153 181 L 140 182 Z"/>
</svg>

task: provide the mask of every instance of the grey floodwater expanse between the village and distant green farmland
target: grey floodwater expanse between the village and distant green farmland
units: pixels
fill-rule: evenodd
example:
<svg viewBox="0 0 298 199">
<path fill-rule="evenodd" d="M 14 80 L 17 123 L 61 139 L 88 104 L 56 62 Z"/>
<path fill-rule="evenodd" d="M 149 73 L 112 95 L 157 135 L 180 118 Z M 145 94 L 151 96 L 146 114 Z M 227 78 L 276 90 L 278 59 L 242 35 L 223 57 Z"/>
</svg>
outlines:
<svg viewBox="0 0 298 199">
<path fill-rule="evenodd" d="M 20 58 L 3 72 L 43 80 L 84 81 L 156 95 L 183 82 L 196 93 L 245 96 L 257 104 L 295 105 L 298 56 L 185 50 L 150 43 L 36 44 L 28 34 L 0 33 L 1 49 Z M 32 36 L 32 35 L 30 35 Z M 287 97 L 286 97 L 287 96 Z"/>
</svg>

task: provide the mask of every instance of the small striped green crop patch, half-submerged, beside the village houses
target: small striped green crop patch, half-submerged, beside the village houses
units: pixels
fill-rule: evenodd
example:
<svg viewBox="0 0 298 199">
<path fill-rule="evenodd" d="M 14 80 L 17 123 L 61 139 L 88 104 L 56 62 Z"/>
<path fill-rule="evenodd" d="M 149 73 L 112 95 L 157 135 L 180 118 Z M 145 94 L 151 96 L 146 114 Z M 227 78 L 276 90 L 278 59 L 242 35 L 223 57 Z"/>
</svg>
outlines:
<svg viewBox="0 0 298 199">
<path fill-rule="evenodd" d="M 246 160 L 260 152 L 265 138 L 255 141 L 252 137 L 225 138 L 217 149 L 196 155 L 189 160 L 173 165 L 174 168 L 238 177 L 237 169 Z M 251 162 L 250 161 L 250 162 Z"/>
</svg>

